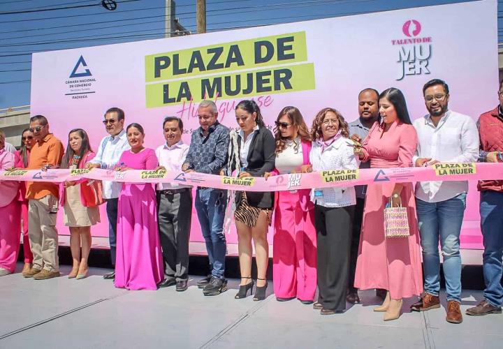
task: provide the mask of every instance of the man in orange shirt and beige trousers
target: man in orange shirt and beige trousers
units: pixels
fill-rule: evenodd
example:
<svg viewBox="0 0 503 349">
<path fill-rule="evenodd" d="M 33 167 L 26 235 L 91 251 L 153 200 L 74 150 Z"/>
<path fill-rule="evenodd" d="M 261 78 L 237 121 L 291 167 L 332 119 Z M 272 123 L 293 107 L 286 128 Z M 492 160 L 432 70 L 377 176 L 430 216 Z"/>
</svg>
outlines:
<svg viewBox="0 0 503 349">
<path fill-rule="evenodd" d="M 34 133 L 36 144 L 31 149 L 27 169 L 48 170 L 59 166 L 64 147 L 60 140 L 49 133 L 48 120 L 42 115 L 31 117 L 29 130 Z M 58 185 L 55 183 L 27 182 L 28 235 L 34 261 L 33 267 L 23 273 L 25 278 L 45 280 L 60 275 L 56 230 L 58 196 Z"/>
</svg>

